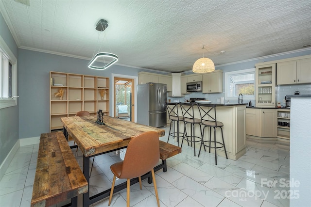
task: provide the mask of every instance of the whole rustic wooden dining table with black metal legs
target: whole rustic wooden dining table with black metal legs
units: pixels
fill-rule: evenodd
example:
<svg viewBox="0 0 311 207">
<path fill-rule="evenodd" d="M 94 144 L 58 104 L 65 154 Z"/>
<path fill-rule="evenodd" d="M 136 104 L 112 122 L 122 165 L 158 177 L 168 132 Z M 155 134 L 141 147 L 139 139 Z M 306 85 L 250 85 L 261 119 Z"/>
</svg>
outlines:
<svg viewBox="0 0 311 207">
<path fill-rule="evenodd" d="M 126 148 L 132 138 L 142 132 L 156 131 L 159 137 L 165 135 L 165 130 L 104 115 L 104 125 L 97 124 L 97 116 L 62 117 L 64 135 L 70 135 L 76 146 L 83 153 L 83 174 L 88 182 L 89 190 L 89 160 L 92 157 Z M 147 178 L 149 175 L 142 176 Z M 131 180 L 131 185 L 138 179 Z M 126 188 L 126 182 L 115 187 L 115 191 Z M 89 205 L 108 197 L 110 189 L 89 197 L 89 191 L 83 194 L 83 206 Z"/>
</svg>

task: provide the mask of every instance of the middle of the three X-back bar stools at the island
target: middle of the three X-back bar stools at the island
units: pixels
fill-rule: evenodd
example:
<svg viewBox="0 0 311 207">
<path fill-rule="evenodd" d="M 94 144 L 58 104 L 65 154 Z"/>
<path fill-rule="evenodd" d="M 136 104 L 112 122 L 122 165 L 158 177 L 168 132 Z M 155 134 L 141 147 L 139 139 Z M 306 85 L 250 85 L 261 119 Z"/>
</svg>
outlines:
<svg viewBox="0 0 311 207">
<path fill-rule="evenodd" d="M 183 137 L 183 140 L 181 142 L 181 147 L 183 146 L 184 139 L 186 138 L 186 140 L 188 142 L 188 146 L 189 146 L 189 142 L 191 143 L 191 146 L 193 143 L 193 150 L 194 150 L 194 156 L 195 156 L 195 143 L 202 142 L 201 119 L 194 117 L 194 108 L 197 107 L 197 104 L 196 103 L 180 103 L 180 106 L 181 106 L 181 111 L 183 114 L 185 132 L 186 132 L 186 136 Z M 189 134 L 189 133 L 187 133 L 187 129 L 186 129 L 187 124 L 191 125 L 190 136 L 187 135 L 187 134 Z M 195 136 L 194 127 L 196 124 L 200 126 L 200 136 L 201 137 Z M 190 140 L 188 139 L 188 137 L 190 137 Z"/>
</svg>

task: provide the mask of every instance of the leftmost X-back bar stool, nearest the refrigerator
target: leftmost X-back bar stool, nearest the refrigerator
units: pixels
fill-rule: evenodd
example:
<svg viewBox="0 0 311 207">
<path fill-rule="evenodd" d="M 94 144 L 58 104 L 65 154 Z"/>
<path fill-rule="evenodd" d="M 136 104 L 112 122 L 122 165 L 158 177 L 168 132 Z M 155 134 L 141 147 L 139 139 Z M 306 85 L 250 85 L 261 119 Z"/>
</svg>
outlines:
<svg viewBox="0 0 311 207">
<path fill-rule="evenodd" d="M 169 139 L 170 136 L 172 136 L 173 138 L 177 138 L 177 142 L 178 142 L 178 146 L 179 146 L 179 137 L 180 134 L 182 134 L 182 137 L 184 138 L 185 136 L 185 128 L 184 128 L 184 132 L 179 132 L 179 121 L 183 121 L 183 117 L 178 115 L 178 106 L 180 106 L 179 103 L 166 103 L 166 109 L 167 112 L 169 114 L 169 118 L 171 120 L 171 124 L 170 124 L 170 131 L 169 131 L 169 136 L 167 138 L 167 142 L 169 143 Z M 176 132 L 171 132 L 172 129 L 172 123 L 175 122 L 176 126 L 177 126 L 177 131 Z"/>
</svg>

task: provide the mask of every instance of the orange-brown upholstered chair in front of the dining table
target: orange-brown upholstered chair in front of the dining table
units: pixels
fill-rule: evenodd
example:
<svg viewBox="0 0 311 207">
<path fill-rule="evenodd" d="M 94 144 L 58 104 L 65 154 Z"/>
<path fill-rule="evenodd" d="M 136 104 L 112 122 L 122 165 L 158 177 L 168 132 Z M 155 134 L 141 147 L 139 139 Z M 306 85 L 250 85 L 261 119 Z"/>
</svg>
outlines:
<svg viewBox="0 0 311 207">
<path fill-rule="evenodd" d="M 134 137 L 127 146 L 124 160 L 110 166 L 113 176 L 109 204 L 113 194 L 116 177 L 127 179 L 127 207 L 130 205 L 130 179 L 138 177 L 141 189 L 141 175 L 151 171 L 155 187 L 157 206 L 160 206 L 156 190 L 154 167 L 160 158 L 159 137 L 155 131 L 144 132 Z"/>
</svg>

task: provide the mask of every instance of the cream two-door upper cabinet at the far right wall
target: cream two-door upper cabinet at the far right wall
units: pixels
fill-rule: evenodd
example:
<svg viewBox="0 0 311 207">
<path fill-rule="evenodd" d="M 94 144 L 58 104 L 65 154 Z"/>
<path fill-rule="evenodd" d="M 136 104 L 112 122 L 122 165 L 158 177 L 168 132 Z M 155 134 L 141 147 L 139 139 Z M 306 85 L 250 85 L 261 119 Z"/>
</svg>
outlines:
<svg viewBox="0 0 311 207">
<path fill-rule="evenodd" d="M 311 83 L 311 58 L 277 63 L 276 82 L 277 85 Z"/>
</svg>

